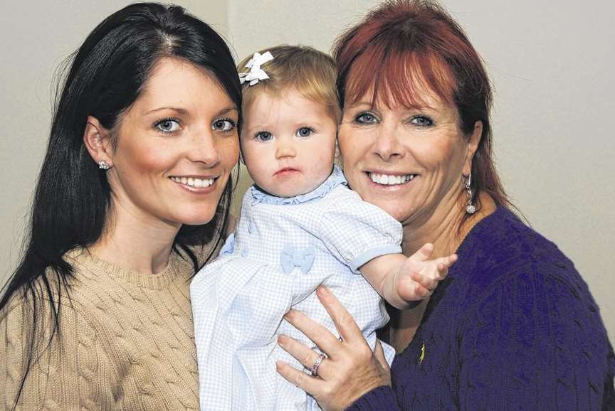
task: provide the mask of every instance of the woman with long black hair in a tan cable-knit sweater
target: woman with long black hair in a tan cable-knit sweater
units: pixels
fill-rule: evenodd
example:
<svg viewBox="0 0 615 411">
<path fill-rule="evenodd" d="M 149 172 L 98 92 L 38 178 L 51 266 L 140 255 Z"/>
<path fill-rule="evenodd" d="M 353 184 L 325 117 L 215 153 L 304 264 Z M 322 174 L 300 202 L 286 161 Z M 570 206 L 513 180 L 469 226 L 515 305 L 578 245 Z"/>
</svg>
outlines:
<svg viewBox="0 0 615 411">
<path fill-rule="evenodd" d="M 199 407 L 189 280 L 226 230 L 240 107 L 226 44 L 180 7 L 85 39 L 0 301 L 1 408 Z"/>
</svg>

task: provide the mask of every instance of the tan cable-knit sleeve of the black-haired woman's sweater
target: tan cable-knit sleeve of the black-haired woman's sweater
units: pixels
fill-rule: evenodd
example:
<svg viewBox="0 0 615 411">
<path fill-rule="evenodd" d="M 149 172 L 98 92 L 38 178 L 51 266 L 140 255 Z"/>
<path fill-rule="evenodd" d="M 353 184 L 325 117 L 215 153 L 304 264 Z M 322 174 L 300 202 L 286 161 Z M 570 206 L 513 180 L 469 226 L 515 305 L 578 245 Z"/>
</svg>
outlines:
<svg viewBox="0 0 615 411">
<path fill-rule="evenodd" d="M 31 308 L 10 304 L 0 314 L 1 410 L 13 410 L 23 379 L 32 363 L 19 396 L 18 410 L 112 409 L 112 368 L 105 349 L 85 317 L 63 305 L 59 332 L 49 341 L 51 308 L 47 301 L 36 312 L 35 354 L 28 356 Z M 43 343 L 41 343 L 43 341 Z M 103 407 L 103 408 L 101 408 Z"/>
</svg>

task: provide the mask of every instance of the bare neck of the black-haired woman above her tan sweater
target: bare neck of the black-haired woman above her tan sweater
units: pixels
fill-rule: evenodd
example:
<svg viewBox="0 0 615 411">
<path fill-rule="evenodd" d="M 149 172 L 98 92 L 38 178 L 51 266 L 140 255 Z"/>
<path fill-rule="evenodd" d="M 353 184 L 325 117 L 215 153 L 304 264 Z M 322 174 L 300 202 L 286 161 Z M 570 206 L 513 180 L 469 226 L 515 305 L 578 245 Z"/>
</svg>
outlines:
<svg viewBox="0 0 615 411">
<path fill-rule="evenodd" d="M 180 224 L 130 213 L 112 201 L 100 238 L 89 247 L 102 260 L 144 274 L 167 267 Z"/>
</svg>

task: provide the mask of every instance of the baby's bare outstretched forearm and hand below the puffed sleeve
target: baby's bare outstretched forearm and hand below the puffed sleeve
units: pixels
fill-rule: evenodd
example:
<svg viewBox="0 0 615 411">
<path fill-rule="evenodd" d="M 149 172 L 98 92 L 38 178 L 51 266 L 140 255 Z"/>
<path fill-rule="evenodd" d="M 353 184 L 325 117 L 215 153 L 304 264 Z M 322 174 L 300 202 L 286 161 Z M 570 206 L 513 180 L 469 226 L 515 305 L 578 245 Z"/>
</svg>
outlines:
<svg viewBox="0 0 615 411">
<path fill-rule="evenodd" d="M 397 309 L 405 309 L 410 301 L 431 295 L 457 261 L 456 254 L 429 260 L 432 252 L 433 245 L 428 243 L 410 257 L 381 255 L 359 269 L 382 298 Z"/>
</svg>

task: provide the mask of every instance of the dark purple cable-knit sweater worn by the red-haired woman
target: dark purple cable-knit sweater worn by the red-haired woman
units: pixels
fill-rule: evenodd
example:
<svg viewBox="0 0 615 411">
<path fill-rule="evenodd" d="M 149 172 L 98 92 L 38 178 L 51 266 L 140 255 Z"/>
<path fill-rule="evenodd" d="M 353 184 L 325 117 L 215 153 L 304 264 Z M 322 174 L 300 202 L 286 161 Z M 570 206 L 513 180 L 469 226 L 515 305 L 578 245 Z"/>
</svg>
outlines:
<svg viewBox="0 0 615 411">
<path fill-rule="evenodd" d="M 433 293 L 393 387 L 349 410 L 615 410 L 615 356 L 572 262 L 498 208 Z"/>
</svg>

